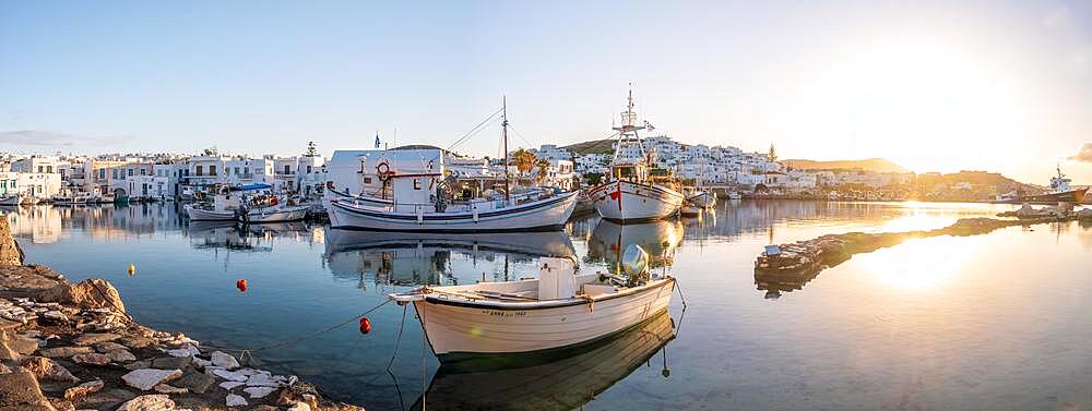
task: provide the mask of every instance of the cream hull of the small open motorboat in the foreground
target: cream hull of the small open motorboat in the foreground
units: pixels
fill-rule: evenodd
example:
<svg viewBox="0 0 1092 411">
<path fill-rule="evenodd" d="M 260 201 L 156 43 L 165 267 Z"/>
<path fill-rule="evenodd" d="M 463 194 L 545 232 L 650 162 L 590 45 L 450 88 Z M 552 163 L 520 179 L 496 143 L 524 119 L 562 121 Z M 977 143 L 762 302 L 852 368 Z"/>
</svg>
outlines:
<svg viewBox="0 0 1092 411">
<path fill-rule="evenodd" d="M 624 331 L 667 309 L 675 279 L 594 301 L 571 299 L 555 306 L 521 309 L 464 303 L 436 297 L 414 301 L 432 352 L 440 362 L 489 355 L 534 355 Z"/>
</svg>

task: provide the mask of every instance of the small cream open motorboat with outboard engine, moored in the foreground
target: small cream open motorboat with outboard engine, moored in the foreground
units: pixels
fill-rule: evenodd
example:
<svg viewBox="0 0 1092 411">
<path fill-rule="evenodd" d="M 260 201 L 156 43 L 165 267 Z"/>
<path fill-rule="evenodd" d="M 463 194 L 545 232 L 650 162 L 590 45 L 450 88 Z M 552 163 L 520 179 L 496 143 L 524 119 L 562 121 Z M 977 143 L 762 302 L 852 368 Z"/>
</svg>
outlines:
<svg viewBox="0 0 1092 411">
<path fill-rule="evenodd" d="M 390 298 L 414 304 L 440 362 L 541 355 L 598 341 L 667 310 L 675 278 L 650 274 L 639 246 L 626 256 L 626 275 L 578 275 L 573 259 L 543 257 L 536 279 L 425 287 Z"/>
</svg>

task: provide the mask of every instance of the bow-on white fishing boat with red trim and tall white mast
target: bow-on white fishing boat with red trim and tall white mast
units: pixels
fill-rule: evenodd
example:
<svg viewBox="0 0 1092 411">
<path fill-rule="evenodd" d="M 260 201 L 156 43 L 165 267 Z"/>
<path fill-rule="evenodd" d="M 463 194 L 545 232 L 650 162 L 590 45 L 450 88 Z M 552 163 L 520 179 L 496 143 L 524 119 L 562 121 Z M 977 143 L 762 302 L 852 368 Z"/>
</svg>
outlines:
<svg viewBox="0 0 1092 411">
<path fill-rule="evenodd" d="M 587 195 L 595 202 L 595 208 L 605 219 L 619 222 L 644 222 L 658 220 L 678 213 L 686 198 L 677 191 L 677 184 L 669 177 L 650 176 L 650 154 L 638 131 L 644 126 L 637 124 L 633 111 L 633 90 L 629 92 L 629 105 L 621 113 L 618 143 L 615 145 L 610 176 L 589 190 Z M 624 147 L 637 145 L 640 158 L 621 156 Z"/>
</svg>

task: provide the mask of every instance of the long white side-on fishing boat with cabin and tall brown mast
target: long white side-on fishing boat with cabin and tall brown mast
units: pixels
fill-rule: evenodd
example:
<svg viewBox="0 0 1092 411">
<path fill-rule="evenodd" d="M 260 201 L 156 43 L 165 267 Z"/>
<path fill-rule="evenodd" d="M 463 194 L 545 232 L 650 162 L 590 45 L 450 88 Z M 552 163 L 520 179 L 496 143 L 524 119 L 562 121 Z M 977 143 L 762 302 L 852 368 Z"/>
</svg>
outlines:
<svg viewBox="0 0 1092 411">
<path fill-rule="evenodd" d="M 505 164 L 508 161 L 507 110 L 502 121 Z M 414 153 L 406 150 L 406 153 Z M 416 150 L 417 169 L 396 170 L 389 164 L 377 168 L 389 184 L 389 204 L 361 198 L 331 200 L 327 206 L 333 228 L 377 231 L 482 232 L 558 230 L 569 220 L 579 193 L 535 188 L 512 193 L 508 173 L 502 193 L 492 192 L 476 198 L 458 197 L 456 178 L 446 169 L 440 150 Z M 405 167 L 397 166 L 397 167 Z"/>
</svg>

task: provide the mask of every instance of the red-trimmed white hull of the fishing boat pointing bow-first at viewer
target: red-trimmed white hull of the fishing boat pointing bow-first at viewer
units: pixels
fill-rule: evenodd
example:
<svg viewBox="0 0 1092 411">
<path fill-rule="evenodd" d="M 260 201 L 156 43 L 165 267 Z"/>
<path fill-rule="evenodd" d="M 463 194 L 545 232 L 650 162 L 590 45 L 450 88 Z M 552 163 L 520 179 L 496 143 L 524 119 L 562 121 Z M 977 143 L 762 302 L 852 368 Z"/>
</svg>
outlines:
<svg viewBox="0 0 1092 411">
<path fill-rule="evenodd" d="M 685 196 L 672 189 L 629 181 L 612 181 L 587 194 L 605 219 L 617 222 L 646 222 L 675 215 Z"/>
</svg>

